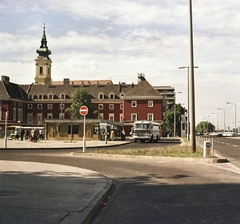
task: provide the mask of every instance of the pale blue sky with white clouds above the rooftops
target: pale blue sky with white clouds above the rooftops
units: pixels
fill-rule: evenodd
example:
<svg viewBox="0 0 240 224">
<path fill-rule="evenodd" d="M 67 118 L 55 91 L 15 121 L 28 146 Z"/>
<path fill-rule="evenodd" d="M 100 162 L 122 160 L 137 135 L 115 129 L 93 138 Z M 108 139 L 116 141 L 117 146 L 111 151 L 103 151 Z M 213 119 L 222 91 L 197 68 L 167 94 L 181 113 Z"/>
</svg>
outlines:
<svg viewBox="0 0 240 224">
<path fill-rule="evenodd" d="M 188 0 L 0 0 L 0 74 L 34 83 L 46 27 L 52 80 L 172 86 L 187 109 Z M 192 0 L 196 125 L 240 125 L 240 1 Z M 180 93 L 181 92 L 181 93 Z M 230 102 L 231 104 L 227 104 Z M 219 109 L 221 110 L 219 110 Z M 225 118 L 225 119 L 224 119 Z"/>
</svg>

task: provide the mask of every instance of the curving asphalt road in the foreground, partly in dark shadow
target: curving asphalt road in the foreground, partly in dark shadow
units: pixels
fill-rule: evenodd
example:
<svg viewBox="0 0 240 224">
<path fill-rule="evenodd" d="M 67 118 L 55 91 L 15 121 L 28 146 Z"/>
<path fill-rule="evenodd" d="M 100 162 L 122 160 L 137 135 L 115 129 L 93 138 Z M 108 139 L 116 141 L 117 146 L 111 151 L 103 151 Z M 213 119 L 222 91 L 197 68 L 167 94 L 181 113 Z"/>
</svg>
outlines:
<svg viewBox="0 0 240 224">
<path fill-rule="evenodd" d="M 0 151 L 0 156 L 71 165 L 110 177 L 117 189 L 94 224 L 240 223 L 240 169 L 233 170 L 230 163 L 72 156 L 70 152 L 14 150 Z"/>
</svg>

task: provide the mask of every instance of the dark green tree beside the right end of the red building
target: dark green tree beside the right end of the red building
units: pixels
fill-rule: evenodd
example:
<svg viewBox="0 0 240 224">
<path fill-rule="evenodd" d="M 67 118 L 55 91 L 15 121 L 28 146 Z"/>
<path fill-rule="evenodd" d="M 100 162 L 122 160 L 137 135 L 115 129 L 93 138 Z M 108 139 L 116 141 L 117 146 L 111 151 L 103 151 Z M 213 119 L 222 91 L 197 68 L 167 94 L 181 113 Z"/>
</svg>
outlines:
<svg viewBox="0 0 240 224">
<path fill-rule="evenodd" d="M 176 132 L 181 133 L 181 115 L 185 114 L 187 110 L 176 104 Z M 166 128 L 166 132 L 173 136 L 174 132 L 174 103 L 169 105 L 168 110 L 163 113 L 163 126 Z"/>
</svg>

